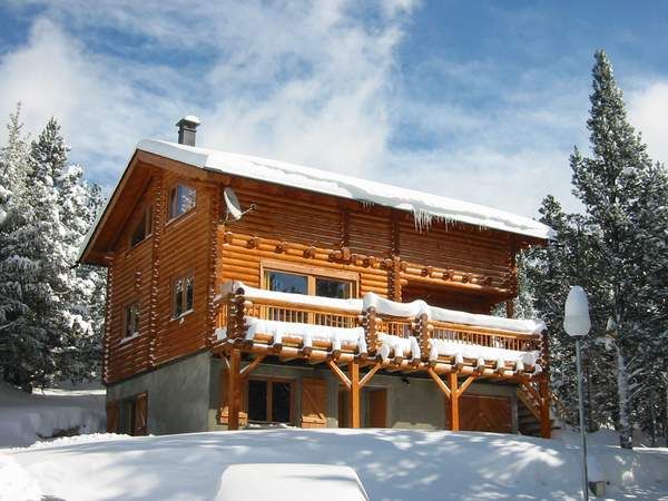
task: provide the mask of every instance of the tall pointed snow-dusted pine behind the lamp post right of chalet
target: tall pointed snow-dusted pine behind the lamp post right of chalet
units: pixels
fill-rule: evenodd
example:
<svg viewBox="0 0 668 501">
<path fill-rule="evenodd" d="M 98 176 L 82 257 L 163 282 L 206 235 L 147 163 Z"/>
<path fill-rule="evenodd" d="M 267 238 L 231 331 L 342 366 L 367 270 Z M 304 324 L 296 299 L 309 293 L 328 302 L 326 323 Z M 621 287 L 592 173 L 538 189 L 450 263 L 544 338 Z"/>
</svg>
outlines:
<svg viewBox="0 0 668 501">
<path fill-rule="evenodd" d="M 657 261 L 665 271 L 666 226 L 660 223 L 665 217 L 656 213 L 666 209 L 666 191 L 657 181 L 662 167 L 652 164 L 628 122 L 610 61 L 603 51 L 597 51 L 595 59 L 587 122 L 592 153 L 584 157 L 576 148 L 570 158 L 573 194 L 584 214 L 563 215 L 554 199 L 546 199 L 543 222 L 560 233 L 559 243 L 542 250 L 544 261 L 530 273 L 538 287 L 537 307 L 552 332 L 554 386 L 567 402 L 574 394 L 574 371 L 572 341 L 561 332 L 563 299 L 568 285 L 577 283 L 588 291 L 592 332 L 583 352 L 590 415 L 597 423 L 612 418 L 621 445 L 630 448 L 633 410 L 649 372 L 646 347 L 656 345 L 648 340 L 665 332 L 660 328 L 665 301 L 657 297 L 666 282 L 657 283 L 662 272 L 651 277 L 648 271 L 650 262 L 656 266 Z M 593 342 L 605 335 L 609 352 Z M 610 397 L 613 389 L 616 399 Z"/>
</svg>

